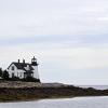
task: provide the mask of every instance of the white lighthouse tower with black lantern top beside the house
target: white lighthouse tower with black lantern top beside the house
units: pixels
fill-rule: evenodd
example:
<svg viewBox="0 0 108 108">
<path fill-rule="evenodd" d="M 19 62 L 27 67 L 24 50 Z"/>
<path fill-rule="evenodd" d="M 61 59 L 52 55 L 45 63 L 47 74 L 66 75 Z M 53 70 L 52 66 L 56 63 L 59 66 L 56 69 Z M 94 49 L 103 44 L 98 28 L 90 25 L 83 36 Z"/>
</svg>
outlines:
<svg viewBox="0 0 108 108">
<path fill-rule="evenodd" d="M 33 68 L 33 73 L 35 73 L 37 80 L 39 80 L 38 65 L 39 64 L 37 63 L 37 58 L 33 56 L 33 58 L 31 58 L 31 66 Z"/>
</svg>

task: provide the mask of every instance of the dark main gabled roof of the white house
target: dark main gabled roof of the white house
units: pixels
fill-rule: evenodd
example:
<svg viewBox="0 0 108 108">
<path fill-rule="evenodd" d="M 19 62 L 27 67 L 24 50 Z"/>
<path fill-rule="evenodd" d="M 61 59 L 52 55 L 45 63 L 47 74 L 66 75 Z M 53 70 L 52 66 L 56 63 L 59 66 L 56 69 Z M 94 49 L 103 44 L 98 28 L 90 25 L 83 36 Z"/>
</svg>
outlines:
<svg viewBox="0 0 108 108">
<path fill-rule="evenodd" d="M 25 69 L 25 67 L 27 67 L 27 65 L 29 65 L 29 69 L 30 69 L 30 70 L 33 70 L 31 64 L 28 64 L 28 63 L 12 63 L 12 64 L 14 64 L 14 65 L 17 67 L 17 69 L 23 69 L 23 70 L 25 70 L 25 71 L 27 71 L 27 70 Z M 12 64 L 11 64 L 11 65 L 12 65 Z M 10 65 L 10 66 L 11 66 L 11 65 Z M 10 66 L 9 66 L 9 68 L 10 68 Z M 8 68 L 8 69 L 9 69 L 9 68 Z"/>
</svg>

